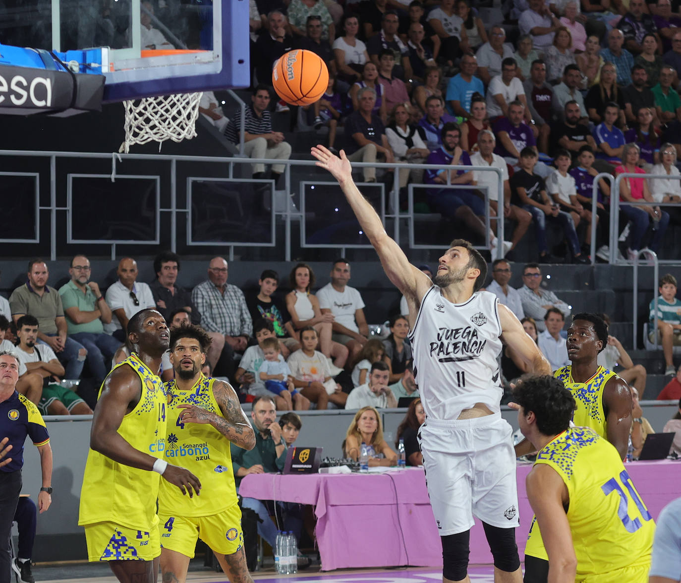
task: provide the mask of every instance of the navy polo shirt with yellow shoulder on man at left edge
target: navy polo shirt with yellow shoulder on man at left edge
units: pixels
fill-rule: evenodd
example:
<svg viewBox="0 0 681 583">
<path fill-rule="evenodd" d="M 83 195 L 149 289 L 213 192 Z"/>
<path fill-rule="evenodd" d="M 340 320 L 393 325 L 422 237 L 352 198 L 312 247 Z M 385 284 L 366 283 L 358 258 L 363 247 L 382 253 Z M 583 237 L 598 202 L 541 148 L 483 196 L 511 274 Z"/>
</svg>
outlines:
<svg viewBox="0 0 681 583">
<path fill-rule="evenodd" d="M 14 391 L 10 398 L 0 403 L 0 439 L 10 438 L 12 446 L 8 457 L 12 461 L 0 468 L 0 472 L 16 472 L 24 465 L 24 442 L 31 438 L 35 447 L 50 443 L 45 421 L 38 408 L 25 395 Z"/>
</svg>

